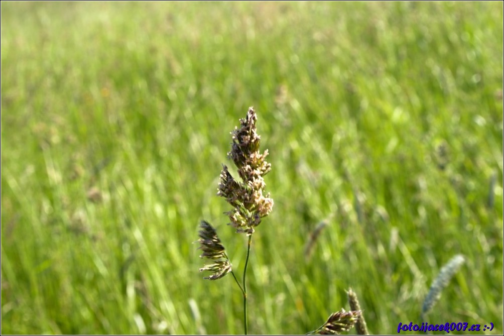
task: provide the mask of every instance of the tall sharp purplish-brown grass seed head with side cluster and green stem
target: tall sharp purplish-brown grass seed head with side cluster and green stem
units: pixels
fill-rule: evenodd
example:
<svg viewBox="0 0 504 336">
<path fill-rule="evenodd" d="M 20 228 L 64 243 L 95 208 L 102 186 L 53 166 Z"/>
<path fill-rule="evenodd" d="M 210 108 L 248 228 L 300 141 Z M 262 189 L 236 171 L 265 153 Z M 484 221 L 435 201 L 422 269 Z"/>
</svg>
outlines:
<svg viewBox="0 0 504 336">
<path fill-rule="evenodd" d="M 217 195 L 222 196 L 233 206 L 226 212 L 237 233 L 245 233 L 248 237 L 247 254 L 243 267 L 242 282 L 238 281 L 234 274 L 229 258 L 225 253 L 217 232 L 206 221 L 201 222 L 200 243 L 203 249 L 201 257 L 212 259 L 213 263 L 200 268 L 200 271 L 211 271 L 213 275 L 206 277 L 216 280 L 227 273 L 231 273 L 243 294 L 243 325 L 244 333 L 248 333 L 247 321 L 247 286 L 246 270 L 250 256 L 250 245 L 254 228 L 257 227 L 263 217 L 267 216 L 273 208 L 273 199 L 270 194 L 264 195 L 266 183 L 263 176 L 271 171 L 271 164 L 266 161 L 268 150 L 264 153 L 259 151 L 261 137 L 256 131 L 257 115 L 253 107 L 249 107 L 246 117 L 240 119 L 240 128 L 235 127 L 232 134 L 231 151 L 228 157 L 238 169 L 241 182 L 236 181 L 228 167 L 223 164 L 220 174 L 220 183 Z M 215 261 L 215 259 L 219 259 Z"/>
</svg>

